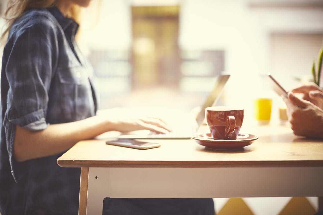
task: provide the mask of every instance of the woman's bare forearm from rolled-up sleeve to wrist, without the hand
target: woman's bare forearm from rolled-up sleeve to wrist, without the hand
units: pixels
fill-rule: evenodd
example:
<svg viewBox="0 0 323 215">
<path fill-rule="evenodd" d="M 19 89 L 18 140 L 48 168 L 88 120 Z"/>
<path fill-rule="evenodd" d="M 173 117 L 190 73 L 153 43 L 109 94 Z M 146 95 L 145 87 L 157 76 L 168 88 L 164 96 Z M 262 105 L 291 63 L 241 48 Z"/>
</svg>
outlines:
<svg viewBox="0 0 323 215">
<path fill-rule="evenodd" d="M 80 140 L 93 138 L 112 130 L 112 122 L 99 116 L 84 120 L 49 125 L 42 131 L 29 131 L 16 126 L 14 158 L 26 161 L 67 151 Z"/>
</svg>

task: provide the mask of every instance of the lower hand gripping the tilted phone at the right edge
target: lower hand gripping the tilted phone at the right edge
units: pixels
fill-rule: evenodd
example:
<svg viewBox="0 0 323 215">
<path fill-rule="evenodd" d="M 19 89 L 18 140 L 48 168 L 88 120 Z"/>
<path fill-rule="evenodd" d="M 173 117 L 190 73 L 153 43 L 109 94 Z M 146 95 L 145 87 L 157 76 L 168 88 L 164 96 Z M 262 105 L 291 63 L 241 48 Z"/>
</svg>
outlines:
<svg viewBox="0 0 323 215">
<path fill-rule="evenodd" d="M 298 91 L 299 92 L 299 91 Z M 318 93 L 315 101 L 322 104 L 323 94 Z M 300 99 L 289 92 L 283 97 L 287 105 L 287 117 L 295 135 L 323 138 L 323 110 L 308 100 Z"/>
</svg>

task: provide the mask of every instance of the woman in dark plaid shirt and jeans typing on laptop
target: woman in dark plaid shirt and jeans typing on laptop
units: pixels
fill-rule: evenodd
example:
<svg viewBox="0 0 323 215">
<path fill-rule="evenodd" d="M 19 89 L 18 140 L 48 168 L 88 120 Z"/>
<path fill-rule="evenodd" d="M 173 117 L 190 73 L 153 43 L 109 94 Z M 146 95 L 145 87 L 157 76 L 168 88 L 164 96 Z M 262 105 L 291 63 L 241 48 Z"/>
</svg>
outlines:
<svg viewBox="0 0 323 215">
<path fill-rule="evenodd" d="M 10 0 L 1 72 L 0 212 L 78 214 L 79 168 L 58 157 L 103 132 L 166 132 L 155 118 L 97 115 L 93 69 L 74 39 L 75 5 L 90 0 Z M 212 199 L 108 199 L 107 214 L 214 215 Z"/>
</svg>

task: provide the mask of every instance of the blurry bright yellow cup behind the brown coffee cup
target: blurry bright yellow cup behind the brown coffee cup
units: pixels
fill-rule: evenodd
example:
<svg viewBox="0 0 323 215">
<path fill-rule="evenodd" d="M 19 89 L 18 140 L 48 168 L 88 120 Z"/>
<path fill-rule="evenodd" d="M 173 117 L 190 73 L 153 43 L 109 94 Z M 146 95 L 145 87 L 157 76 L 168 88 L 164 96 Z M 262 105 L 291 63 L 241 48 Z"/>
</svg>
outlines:
<svg viewBox="0 0 323 215">
<path fill-rule="evenodd" d="M 272 103 L 272 98 L 255 99 L 255 119 L 259 122 L 269 123 Z"/>
</svg>

